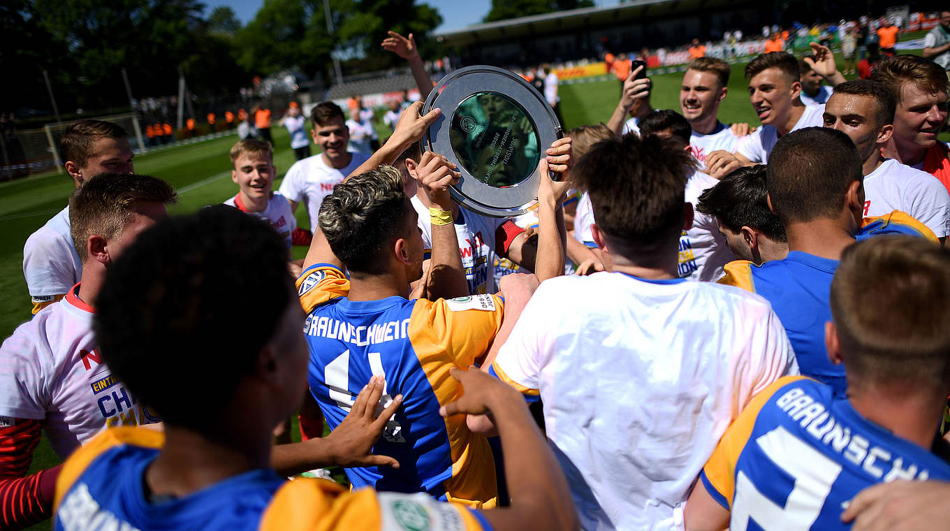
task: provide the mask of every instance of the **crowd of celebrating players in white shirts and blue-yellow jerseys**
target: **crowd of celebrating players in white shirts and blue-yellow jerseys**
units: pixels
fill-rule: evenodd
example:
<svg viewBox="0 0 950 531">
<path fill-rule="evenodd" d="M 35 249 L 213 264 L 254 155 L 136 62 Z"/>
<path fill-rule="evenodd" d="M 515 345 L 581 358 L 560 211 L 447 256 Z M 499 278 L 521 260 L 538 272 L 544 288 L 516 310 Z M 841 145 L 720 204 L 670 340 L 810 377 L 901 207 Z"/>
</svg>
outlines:
<svg viewBox="0 0 950 531">
<path fill-rule="evenodd" d="M 0 524 L 945 527 L 946 72 L 845 81 L 812 47 L 746 67 L 751 132 L 718 116 L 723 61 L 693 60 L 681 114 L 633 68 L 512 219 L 451 199 L 420 103 L 371 155 L 317 104 L 278 192 L 270 143 L 237 142 L 236 196 L 180 218 L 120 127 L 73 124 L 0 348 Z M 44 430 L 66 462 L 27 475 Z M 352 490 L 286 479 L 328 465 Z"/>
</svg>

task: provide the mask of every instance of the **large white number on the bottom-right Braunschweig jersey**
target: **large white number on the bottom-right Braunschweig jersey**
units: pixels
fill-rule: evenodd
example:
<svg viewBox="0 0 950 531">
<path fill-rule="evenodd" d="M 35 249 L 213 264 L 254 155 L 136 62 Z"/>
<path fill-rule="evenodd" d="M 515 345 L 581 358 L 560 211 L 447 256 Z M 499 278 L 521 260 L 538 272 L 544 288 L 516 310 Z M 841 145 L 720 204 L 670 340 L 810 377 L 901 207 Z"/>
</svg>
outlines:
<svg viewBox="0 0 950 531">
<path fill-rule="evenodd" d="M 735 480 L 730 528 L 744 531 L 754 520 L 769 529 L 808 529 L 818 519 L 841 473 L 841 465 L 803 443 L 785 427 L 776 427 L 755 440 L 772 464 L 795 481 L 785 506 L 769 500 L 741 470 Z"/>
</svg>

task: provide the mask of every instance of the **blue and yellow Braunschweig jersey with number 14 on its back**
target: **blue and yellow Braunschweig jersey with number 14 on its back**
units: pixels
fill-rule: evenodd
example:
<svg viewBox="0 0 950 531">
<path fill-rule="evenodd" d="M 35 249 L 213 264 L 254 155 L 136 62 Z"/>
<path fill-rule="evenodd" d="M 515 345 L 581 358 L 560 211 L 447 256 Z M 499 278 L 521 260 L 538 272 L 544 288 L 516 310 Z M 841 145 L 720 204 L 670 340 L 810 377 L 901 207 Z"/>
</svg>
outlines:
<svg viewBox="0 0 950 531">
<path fill-rule="evenodd" d="M 461 394 L 449 369 L 471 366 L 501 328 L 501 298 L 357 302 L 346 298 L 346 275 L 327 264 L 309 268 L 297 287 L 308 313 L 308 381 L 330 427 L 343 421 L 373 375 L 386 377 L 384 398 L 403 395 L 402 407 L 373 447 L 400 467 L 347 468 L 353 487 L 494 506 L 497 484 L 487 440 L 468 430 L 463 415 L 443 419 L 439 408 Z"/>
</svg>

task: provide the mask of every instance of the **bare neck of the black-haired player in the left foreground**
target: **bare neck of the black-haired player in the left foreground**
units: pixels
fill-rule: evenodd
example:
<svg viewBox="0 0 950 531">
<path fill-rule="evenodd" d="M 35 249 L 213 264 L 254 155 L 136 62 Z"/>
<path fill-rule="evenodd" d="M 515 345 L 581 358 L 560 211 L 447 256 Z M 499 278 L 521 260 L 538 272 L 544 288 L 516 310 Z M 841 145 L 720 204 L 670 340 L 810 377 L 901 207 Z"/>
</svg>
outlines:
<svg viewBox="0 0 950 531">
<path fill-rule="evenodd" d="M 218 423 L 220 424 L 220 423 Z M 154 495 L 182 498 L 250 470 L 268 468 L 270 430 L 261 436 L 243 425 L 235 433 L 218 433 L 211 440 L 184 427 L 165 425 L 165 444 L 145 470 L 144 482 Z"/>
</svg>

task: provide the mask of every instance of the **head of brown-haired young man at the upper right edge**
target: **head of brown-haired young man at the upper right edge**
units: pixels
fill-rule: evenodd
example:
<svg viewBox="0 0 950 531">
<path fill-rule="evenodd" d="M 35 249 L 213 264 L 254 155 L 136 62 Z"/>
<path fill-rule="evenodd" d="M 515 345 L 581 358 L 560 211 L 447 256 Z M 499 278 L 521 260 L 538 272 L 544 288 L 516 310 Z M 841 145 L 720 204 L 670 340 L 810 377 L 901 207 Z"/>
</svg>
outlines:
<svg viewBox="0 0 950 531">
<path fill-rule="evenodd" d="M 929 173 L 950 189 L 950 154 L 937 139 L 947 120 L 946 70 L 929 59 L 898 55 L 884 60 L 872 79 L 897 100 L 884 156 Z"/>
</svg>

